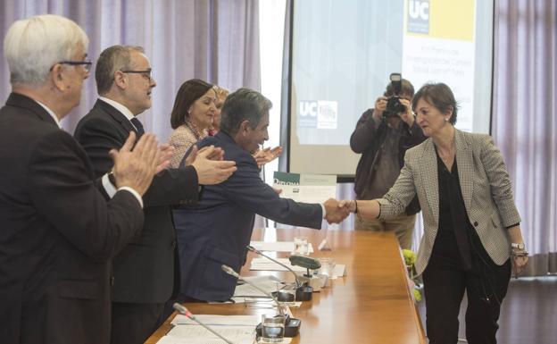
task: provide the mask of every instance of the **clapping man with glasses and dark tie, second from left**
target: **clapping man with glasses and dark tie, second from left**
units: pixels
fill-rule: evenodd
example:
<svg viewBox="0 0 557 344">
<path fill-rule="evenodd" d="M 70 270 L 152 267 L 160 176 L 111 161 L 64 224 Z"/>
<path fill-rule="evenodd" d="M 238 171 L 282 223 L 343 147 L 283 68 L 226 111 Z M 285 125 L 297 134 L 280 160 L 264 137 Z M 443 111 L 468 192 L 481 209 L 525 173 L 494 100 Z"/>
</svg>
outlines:
<svg viewBox="0 0 557 344">
<path fill-rule="evenodd" d="M 110 172 L 108 151 L 121 147 L 130 130 L 141 136 L 136 116 L 151 107 L 156 82 L 140 46 L 111 46 L 96 63 L 99 99 L 81 119 L 74 136 L 85 148 L 96 175 Z M 143 343 L 158 327 L 164 303 L 179 282 L 171 206 L 195 205 L 199 186 L 220 183 L 236 171 L 221 161 L 220 149 L 199 152 L 183 169 L 155 176 L 145 193 L 145 225 L 113 259 L 112 343 Z"/>
</svg>

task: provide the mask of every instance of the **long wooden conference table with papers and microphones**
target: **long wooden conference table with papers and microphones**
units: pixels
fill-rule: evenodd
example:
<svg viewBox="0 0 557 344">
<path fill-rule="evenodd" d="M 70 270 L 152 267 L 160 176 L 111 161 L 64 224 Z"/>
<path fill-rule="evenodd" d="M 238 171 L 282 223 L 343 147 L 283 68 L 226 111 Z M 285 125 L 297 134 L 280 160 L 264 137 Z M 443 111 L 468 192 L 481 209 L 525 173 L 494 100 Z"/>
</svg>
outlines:
<svg viewBox="0 0 557 344">
<path fill-rule="evenodd" d="M 312 257 L 333 257 L 345 264 L 346 274 L 329 280 L 327 288 L 312 294 L 312 300 L 299 308 L 291 307 L 295 318 L 302 321 L 300 334 L 292 343 L 426 343 L 420 316 L 408 288 L 406 269 L 395 235 L 390 232 L 316 231 L 310 229 L 254 230 L 252 240 L 293 241 L 305 236 L 312 243 Z M 330 251 L 319 250 L 327 239 Z M 287 257 L 287 253 L 270 253 Z M 250 271 L 251 259 L 242 276 L 275 275 L 294 281 L 292 273 Z M 248 304 L 184 304 L 194 315 L 259 315 L 270 313 Z M 170 331 L 169 319 L 145 343 L 154 344 Z"/>
</svg>

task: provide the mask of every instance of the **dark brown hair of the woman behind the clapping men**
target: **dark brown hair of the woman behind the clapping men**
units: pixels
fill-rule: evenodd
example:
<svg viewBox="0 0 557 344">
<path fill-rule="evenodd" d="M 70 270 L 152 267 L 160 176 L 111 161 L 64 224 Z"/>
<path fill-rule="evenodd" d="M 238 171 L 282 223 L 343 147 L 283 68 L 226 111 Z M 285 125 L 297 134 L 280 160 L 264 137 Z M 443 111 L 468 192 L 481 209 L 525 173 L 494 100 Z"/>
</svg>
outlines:
<svg viewBox="0 0 557 344">
<path fill-rule="evenodd" d="M 212 87 L 212 84 L 200 79 L 187 80 L 180 86 L 174 100 L 172 113 L 170 113 L 172 129 L 176 129 L 186 122 L 186 119 L 189 117 L 188 110 L 190 106 Z"/>
</svg>

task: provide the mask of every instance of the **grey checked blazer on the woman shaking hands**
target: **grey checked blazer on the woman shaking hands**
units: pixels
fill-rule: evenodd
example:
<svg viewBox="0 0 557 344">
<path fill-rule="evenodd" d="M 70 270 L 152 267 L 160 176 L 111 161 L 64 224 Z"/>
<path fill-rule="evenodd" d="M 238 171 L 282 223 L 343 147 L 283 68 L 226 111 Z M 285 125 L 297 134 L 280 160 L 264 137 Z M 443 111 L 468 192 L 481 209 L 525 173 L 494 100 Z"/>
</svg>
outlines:
<svg viewBox="0 0 557 344">
<path fill-rule="evenodd" d="M 489 135 L 455 130 L 454 136 L 462 198 L 470 223 L 487 254 L 495 264 L 501 265 L 511 251 L 505 228 L 520 222 L 503 155 Z M 419 274 L 428 265 L 439 228 L 438 193 L 436 152 L 433 140 L 428 138 L 406 152 L 395 185 L 387 195 L 378 199 L 381 205 L 379 217 L 385 219 L 403 213 L 412 197 L 418 196 L 424 219 L 424 235 L 416 259 Z"/>
</svg>

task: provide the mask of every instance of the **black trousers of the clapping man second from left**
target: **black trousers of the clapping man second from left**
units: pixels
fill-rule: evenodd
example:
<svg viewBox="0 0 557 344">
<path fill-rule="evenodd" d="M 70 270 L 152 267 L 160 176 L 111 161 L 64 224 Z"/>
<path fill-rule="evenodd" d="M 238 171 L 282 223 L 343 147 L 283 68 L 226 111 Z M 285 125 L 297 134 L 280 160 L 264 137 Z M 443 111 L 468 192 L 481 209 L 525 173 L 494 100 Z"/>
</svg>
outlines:
<svg viewBox="0 0 557 344">
<path fill-rule="evenodd" d="M 143 344 L 159 327 L 164 304 L 112 302 L 111 344 Z"/>
</svg>

